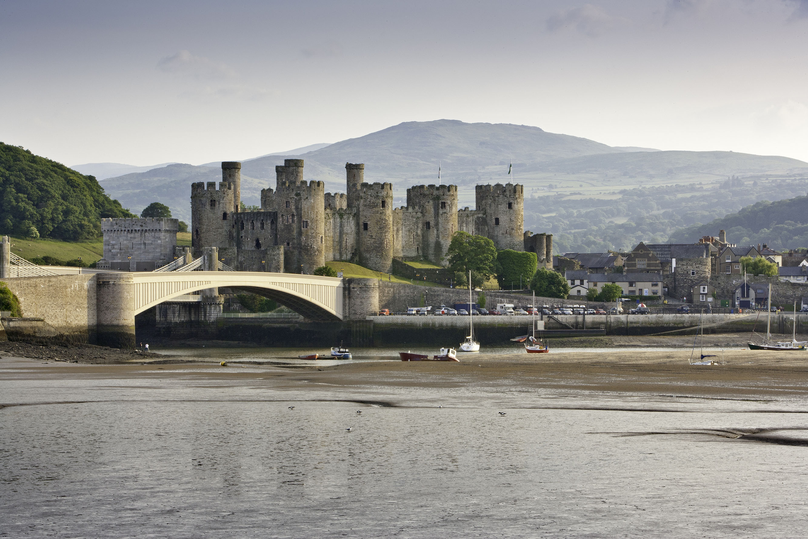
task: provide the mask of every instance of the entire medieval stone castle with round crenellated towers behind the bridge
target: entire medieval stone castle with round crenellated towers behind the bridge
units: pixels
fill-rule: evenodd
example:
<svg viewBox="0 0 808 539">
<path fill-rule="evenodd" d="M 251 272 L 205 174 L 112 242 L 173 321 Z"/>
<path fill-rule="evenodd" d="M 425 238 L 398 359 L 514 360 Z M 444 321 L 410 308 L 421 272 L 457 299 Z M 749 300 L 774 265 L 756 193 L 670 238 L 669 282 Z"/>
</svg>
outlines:
<svg viewBox="0 0 808 539">
<path fill-rule="evenodd" d="M 364 164 L 346 163 L 346 193 L 303 179 L 303 160 L 276 166 L 276 188 L 261 191 L 261 209 L 241 212 L 241 163 L 222 162 L 222 180 L 191 185 L 191 245 L 217 247 L 238 271 L 307 273 L 332 260 L 390 272 L 393 259 L 446 263 L 452 234 L 490 238 L 498 250 L 537 252 L 552 263 L 552 235 L 524 232 L 519 184 L 476 187 L 477 208 L 457 208 L 457 186 L 417 185 L 393 208 L 391 183 L 365 183 Z"/>
</svg>

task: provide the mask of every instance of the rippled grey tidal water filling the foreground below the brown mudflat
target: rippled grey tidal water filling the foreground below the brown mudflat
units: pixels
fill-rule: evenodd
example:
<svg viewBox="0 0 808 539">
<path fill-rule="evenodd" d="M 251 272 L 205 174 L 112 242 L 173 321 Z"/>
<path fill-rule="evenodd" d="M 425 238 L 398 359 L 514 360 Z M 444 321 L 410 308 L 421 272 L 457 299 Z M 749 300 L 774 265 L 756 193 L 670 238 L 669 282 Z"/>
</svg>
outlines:
<svg viewBox="0 0 808 539">
<path fill-rule="evenodd" d="M 32 365 L 0 360 L 0 537 L 800 537 L 808 524 L 803 398 Z"/>
</svg>

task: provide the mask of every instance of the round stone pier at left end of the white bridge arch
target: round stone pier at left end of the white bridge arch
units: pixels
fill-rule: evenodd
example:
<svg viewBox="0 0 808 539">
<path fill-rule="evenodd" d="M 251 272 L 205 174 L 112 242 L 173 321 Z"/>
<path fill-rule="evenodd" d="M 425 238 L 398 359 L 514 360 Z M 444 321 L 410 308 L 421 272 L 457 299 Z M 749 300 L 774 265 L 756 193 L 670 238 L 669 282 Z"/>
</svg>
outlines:
<svg viewBox="0 0 808 539">
<path fill-rule="evenodd" d="M 134 274 L 99 273 L 95 284 L 98 343 L 115 348 L 134 348 Z"/>
</svg>

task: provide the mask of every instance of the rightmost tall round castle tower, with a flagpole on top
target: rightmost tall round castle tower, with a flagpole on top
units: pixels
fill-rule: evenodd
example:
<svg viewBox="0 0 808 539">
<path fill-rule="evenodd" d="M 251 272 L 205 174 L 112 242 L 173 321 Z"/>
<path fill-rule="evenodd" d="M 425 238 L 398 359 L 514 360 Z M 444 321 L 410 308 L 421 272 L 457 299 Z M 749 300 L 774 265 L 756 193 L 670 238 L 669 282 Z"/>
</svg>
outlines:
<svg viewBox="0 0 808 539">
<path fill-rule="evenodd" d="M 486 230 L 479 230 L 494 242 L 499 251 L 524 249 L 524 187 L 497 183 L 478 185 L 477 209 L 486 213 Z"/>
</svg>

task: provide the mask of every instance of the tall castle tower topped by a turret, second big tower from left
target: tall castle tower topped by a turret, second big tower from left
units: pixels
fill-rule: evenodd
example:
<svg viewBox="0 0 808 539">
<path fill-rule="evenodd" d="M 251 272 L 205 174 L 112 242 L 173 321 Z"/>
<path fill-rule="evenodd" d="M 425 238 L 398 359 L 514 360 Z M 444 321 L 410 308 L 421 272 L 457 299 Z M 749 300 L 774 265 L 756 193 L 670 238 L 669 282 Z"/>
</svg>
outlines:
<svg viewBox="0 0 808 539">
<path fill-rule="evenodd" d="M 305 182 L 302 159 L 286 159 L 284 166 L 276 166 L 276 172 L 271 200 L 278 219 L 278 245 L 284 250 L 284 272 L 311 275 L 326 263 L 326 184 Z"/>
</svg>

